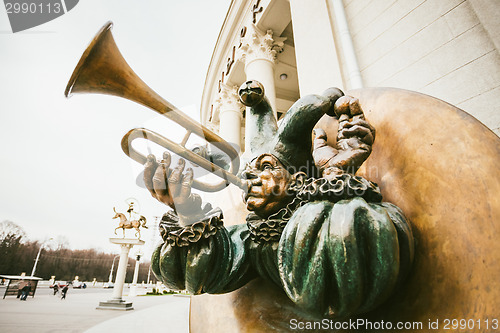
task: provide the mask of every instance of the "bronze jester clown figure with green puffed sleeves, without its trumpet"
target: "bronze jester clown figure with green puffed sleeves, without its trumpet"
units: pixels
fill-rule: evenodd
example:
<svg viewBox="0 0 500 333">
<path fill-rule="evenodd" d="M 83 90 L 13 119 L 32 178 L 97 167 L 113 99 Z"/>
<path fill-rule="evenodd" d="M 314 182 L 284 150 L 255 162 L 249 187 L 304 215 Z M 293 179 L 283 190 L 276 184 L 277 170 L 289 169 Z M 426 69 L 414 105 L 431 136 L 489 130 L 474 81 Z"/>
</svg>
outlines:
<svg viewBox="0 0 500 333">
<path fill-rule="evenodd" d="M 407 275 L 413 236 L 377 184 L 355 176 L 375 139 L 358 101 L 331 88 L 299 99 L 277 126 L 258 82 L 239 94 L 254 128 L 241 172 L 247 223 L 225 227 L 219 209 L 202 205 L 184 160 L 170 168 L 168 154 L 160 162 L 148 156 L 146 186 L 173 209 L 160 223 L 154 273 L 195 295 L 227 293 L 260 276 L 311 316 L 374 309 Z M 325 114 L 339 118 L 334 147 L 322 129 L 313 132 Z"/>
</svg>

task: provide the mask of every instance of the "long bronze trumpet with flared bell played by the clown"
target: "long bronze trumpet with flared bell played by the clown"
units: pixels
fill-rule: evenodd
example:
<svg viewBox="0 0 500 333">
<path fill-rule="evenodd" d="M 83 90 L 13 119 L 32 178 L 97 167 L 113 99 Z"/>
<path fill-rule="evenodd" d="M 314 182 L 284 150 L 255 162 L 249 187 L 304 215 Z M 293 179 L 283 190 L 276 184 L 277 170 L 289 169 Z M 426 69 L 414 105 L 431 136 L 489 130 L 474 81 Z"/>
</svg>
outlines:
<svg viewBox="0 0 500 333">
<path fill-rule="evenodd" d="M 145 138 L 222 178 L 217 183 L 194 180 L 193 188 L 215 192 L 232 183 L 245 189 L 245 182 L 236 176 L 239 169 L 238 152 L 216 133 L 192 120 L 148 87 L 134 73 L 118 50 L 111 34 L 112 26 L 112 22 L 106 23 L 87 47 L 66 86 L 65 96 L 70 97 L 73 93 L 114 95 L 132 100 L 164 115 L 187 130 L 181 143 L 175 143 L 145 128 L 134 128 L 125 134 L 121 142 L 122 149 L 127 156 L 141 164 L 146 163 L 146 156 L 132 147 L 133 140 Z M 185 144 L 191 134 L 204 138 L 227 154 L 231 160 L 229 170 L 226 171 L 187 149 Z"/>
</svg>

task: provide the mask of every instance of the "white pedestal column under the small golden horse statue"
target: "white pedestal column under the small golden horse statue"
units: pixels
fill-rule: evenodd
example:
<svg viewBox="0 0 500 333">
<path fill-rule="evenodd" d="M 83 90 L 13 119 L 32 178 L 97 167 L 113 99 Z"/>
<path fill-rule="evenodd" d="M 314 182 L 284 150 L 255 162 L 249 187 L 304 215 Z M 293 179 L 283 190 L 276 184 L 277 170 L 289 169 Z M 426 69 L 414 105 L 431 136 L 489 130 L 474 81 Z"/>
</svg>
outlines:
<svg viewBox="0 0 500 333">
<path fill-rule="evenodd" d="M 118 270 L 116 272 L 113 297 L 110 300 L 99 302 L 97 309 L 124 311 L 133 310 L 134 308 L 132 307 L 132 302 L 127 302 L 122 299 L 125 275 L 127 274 L 128 254 L 134 245 L 144 245 L 145 242 L 137 238 L 110 238 L 109 241 L 113 244 L 120 245 L 120 261 L 118 262 Z"/>
</svg>

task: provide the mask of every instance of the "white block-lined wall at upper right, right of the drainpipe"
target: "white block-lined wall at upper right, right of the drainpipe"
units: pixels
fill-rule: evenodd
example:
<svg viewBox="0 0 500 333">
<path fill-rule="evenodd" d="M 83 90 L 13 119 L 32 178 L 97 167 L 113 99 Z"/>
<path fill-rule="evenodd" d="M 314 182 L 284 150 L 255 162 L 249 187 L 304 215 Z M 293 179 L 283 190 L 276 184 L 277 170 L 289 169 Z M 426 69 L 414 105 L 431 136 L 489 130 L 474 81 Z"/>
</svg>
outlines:
<svg viewBox="0 0 500 333">
<path fill-rule="evenodd" d="M 365 86 L 435 96 L 500 134 L 495 46 L 500 1 L 344 0 L 344 5 Z"/>
</svg>

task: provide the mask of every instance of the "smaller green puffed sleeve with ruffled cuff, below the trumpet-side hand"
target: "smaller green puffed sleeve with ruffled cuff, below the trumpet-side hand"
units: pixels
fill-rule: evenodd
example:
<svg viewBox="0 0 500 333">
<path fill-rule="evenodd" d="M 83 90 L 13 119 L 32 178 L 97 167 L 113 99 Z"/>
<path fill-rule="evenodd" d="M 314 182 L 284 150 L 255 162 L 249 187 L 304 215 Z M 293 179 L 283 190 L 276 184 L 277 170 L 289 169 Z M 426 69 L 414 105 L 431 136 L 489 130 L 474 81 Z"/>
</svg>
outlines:
<svg viewBox="0 0 500 333">
<path fill-rule="evenodd" d="M 168 288 L 193 295 L 226 293 L 255 277 L 245 251 L 246 225 L 225 228 L 213 219 L 178 229 L 152 256 L 152 270 Z"/>
</svg>

